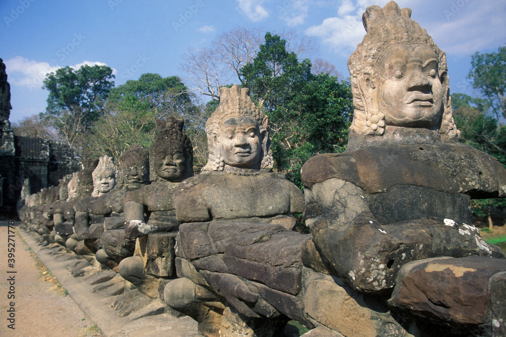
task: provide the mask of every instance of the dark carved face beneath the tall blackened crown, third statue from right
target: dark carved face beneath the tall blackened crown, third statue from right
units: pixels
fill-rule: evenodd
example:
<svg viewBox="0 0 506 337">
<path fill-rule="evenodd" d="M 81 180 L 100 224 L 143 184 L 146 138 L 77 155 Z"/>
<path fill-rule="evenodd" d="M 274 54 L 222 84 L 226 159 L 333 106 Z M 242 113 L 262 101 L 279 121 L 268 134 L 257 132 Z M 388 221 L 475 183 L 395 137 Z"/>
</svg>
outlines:
<svg viewBox="0 0 506 337">
<path fill-rule="evenodd" d="M 161 143 L 155 150 L 156 174 L 164 180 L 176 180 L 185 175 L 185 155 L 180 145 Z"/>
</svg>

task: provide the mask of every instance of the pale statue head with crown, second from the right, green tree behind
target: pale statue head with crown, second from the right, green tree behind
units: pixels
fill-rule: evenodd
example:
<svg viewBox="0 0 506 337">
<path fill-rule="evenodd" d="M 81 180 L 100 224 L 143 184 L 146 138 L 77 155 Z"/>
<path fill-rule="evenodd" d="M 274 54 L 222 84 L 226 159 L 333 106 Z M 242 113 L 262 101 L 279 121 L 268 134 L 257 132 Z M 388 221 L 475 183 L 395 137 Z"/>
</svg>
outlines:
<svg viewBox="0 0 506 337">
<path fill-rule="evenodd" d="M 268 118 L 251 102 L 247 88 L 220 88 L 220 105 L 205 129 L 209 158 L 202 172 L 272 170 Z"/>
</svg>

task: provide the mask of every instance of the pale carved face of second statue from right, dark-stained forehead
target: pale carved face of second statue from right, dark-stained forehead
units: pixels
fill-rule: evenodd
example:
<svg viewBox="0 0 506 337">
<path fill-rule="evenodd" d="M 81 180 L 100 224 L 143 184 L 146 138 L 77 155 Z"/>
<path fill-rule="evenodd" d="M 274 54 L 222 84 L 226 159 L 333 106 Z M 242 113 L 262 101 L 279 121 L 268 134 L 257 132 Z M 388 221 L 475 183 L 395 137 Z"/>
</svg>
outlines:
<svg viewBox="0 0 506 337">
<path fill-rule="evenodd" d="M 250 117 L 231 117 L 220 126 L 216 141 L 225 164 L 252 167 L 262 158 L 262 139 L 257 122 Z"/>
</svg>

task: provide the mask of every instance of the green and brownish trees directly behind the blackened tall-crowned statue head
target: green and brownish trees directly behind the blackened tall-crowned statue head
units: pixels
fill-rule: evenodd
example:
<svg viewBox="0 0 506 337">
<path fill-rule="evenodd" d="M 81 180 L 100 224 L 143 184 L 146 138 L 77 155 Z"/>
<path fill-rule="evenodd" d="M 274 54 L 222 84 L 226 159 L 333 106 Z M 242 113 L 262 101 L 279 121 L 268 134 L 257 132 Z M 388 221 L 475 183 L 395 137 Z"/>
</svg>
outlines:
<svg viewBox="0 0 506 337">
<path fill-rule="evenodd" d="M 146 73 L 111 89 L 104 115 L 80 141 L 86 143 L 83 151 L 88 156 L 119 158 L 131 145 L 151 146 L 155 119 L 172 115 L 185 120 L 194 163 L 203 166 L 208 153 L 205 121 L 209 114 L 179 77 Z"/>
</svg>

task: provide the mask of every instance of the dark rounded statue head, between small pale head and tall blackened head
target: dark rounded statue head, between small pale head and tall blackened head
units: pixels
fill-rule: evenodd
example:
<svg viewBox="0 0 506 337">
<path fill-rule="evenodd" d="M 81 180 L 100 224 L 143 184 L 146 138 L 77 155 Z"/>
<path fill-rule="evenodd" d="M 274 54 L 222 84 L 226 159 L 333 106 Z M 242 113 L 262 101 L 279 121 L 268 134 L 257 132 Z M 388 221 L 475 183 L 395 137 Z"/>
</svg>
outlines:
<svg viewBox="0 0 506 337">
<path fill-rule="evenodd" d="M 117 188 L 144 185 L 149 177 L 148 149 L 140 145 L 133 145 L 121 156 L 118 161 L 116 182 Z M 131 188 L 132 189 L 132 188 Z"/>
</svg>

